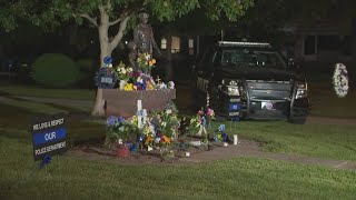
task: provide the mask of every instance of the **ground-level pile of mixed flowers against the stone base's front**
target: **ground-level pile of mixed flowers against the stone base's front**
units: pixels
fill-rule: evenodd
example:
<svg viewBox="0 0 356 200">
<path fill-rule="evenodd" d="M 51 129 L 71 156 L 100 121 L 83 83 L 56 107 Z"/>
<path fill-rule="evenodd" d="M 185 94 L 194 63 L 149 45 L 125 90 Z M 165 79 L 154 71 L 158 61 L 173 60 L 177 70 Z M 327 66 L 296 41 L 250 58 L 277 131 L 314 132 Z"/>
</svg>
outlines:
<svg viewBox="0 0 356 200">
<path fill-rule="evenodd" d="M 152 111 L 148 113 L 144 120 L 142 128 L 138 128 L 138 117 L 134 116 L 129 119 L 121 117 L 109 117 L 107 119 L 107 137 L 105 141 L 106 147 L 112 143 L 131 141 L 138 146 L 144 146 L 148 150 L 154 148 L 166 148 L 178 139 L 180 128 L 180 119 L 178 119 L 178 111 L 168 103 L 167 108 L 162 111 Z"/>
</svg>

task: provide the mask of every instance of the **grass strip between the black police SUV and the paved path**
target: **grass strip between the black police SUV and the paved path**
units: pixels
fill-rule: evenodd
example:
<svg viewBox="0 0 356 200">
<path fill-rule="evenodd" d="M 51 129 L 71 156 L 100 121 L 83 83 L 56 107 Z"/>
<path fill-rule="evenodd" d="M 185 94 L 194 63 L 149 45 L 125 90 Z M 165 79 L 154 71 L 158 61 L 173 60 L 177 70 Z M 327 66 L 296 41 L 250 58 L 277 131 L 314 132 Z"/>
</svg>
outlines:
<svg viewBox="0 0 356 200">
<path fill-rule="evenodd" d="M 319 157 L 336 160 L 356 161 L 356 124 L 291 124 L 274 122 L 231 122 L 226 123 L 227 131 L 241 138 L 265 143 L 264 150 Z"/>
</svg>

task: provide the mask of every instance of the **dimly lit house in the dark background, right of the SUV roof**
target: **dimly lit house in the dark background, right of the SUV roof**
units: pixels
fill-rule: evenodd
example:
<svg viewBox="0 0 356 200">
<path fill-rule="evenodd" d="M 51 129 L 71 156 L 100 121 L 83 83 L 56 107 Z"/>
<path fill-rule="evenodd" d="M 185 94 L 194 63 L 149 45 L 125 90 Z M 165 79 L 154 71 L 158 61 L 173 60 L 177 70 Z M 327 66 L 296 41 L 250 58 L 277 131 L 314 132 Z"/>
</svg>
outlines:
<svg viewBox="0 0 356 200">
<path fill-rule="evenodd" d="M 352 23 L 320 20 L 295 21 L 283 28 L 283 51 L 300 61 L 348 62 L 352 60 Z"/>
</svg>

